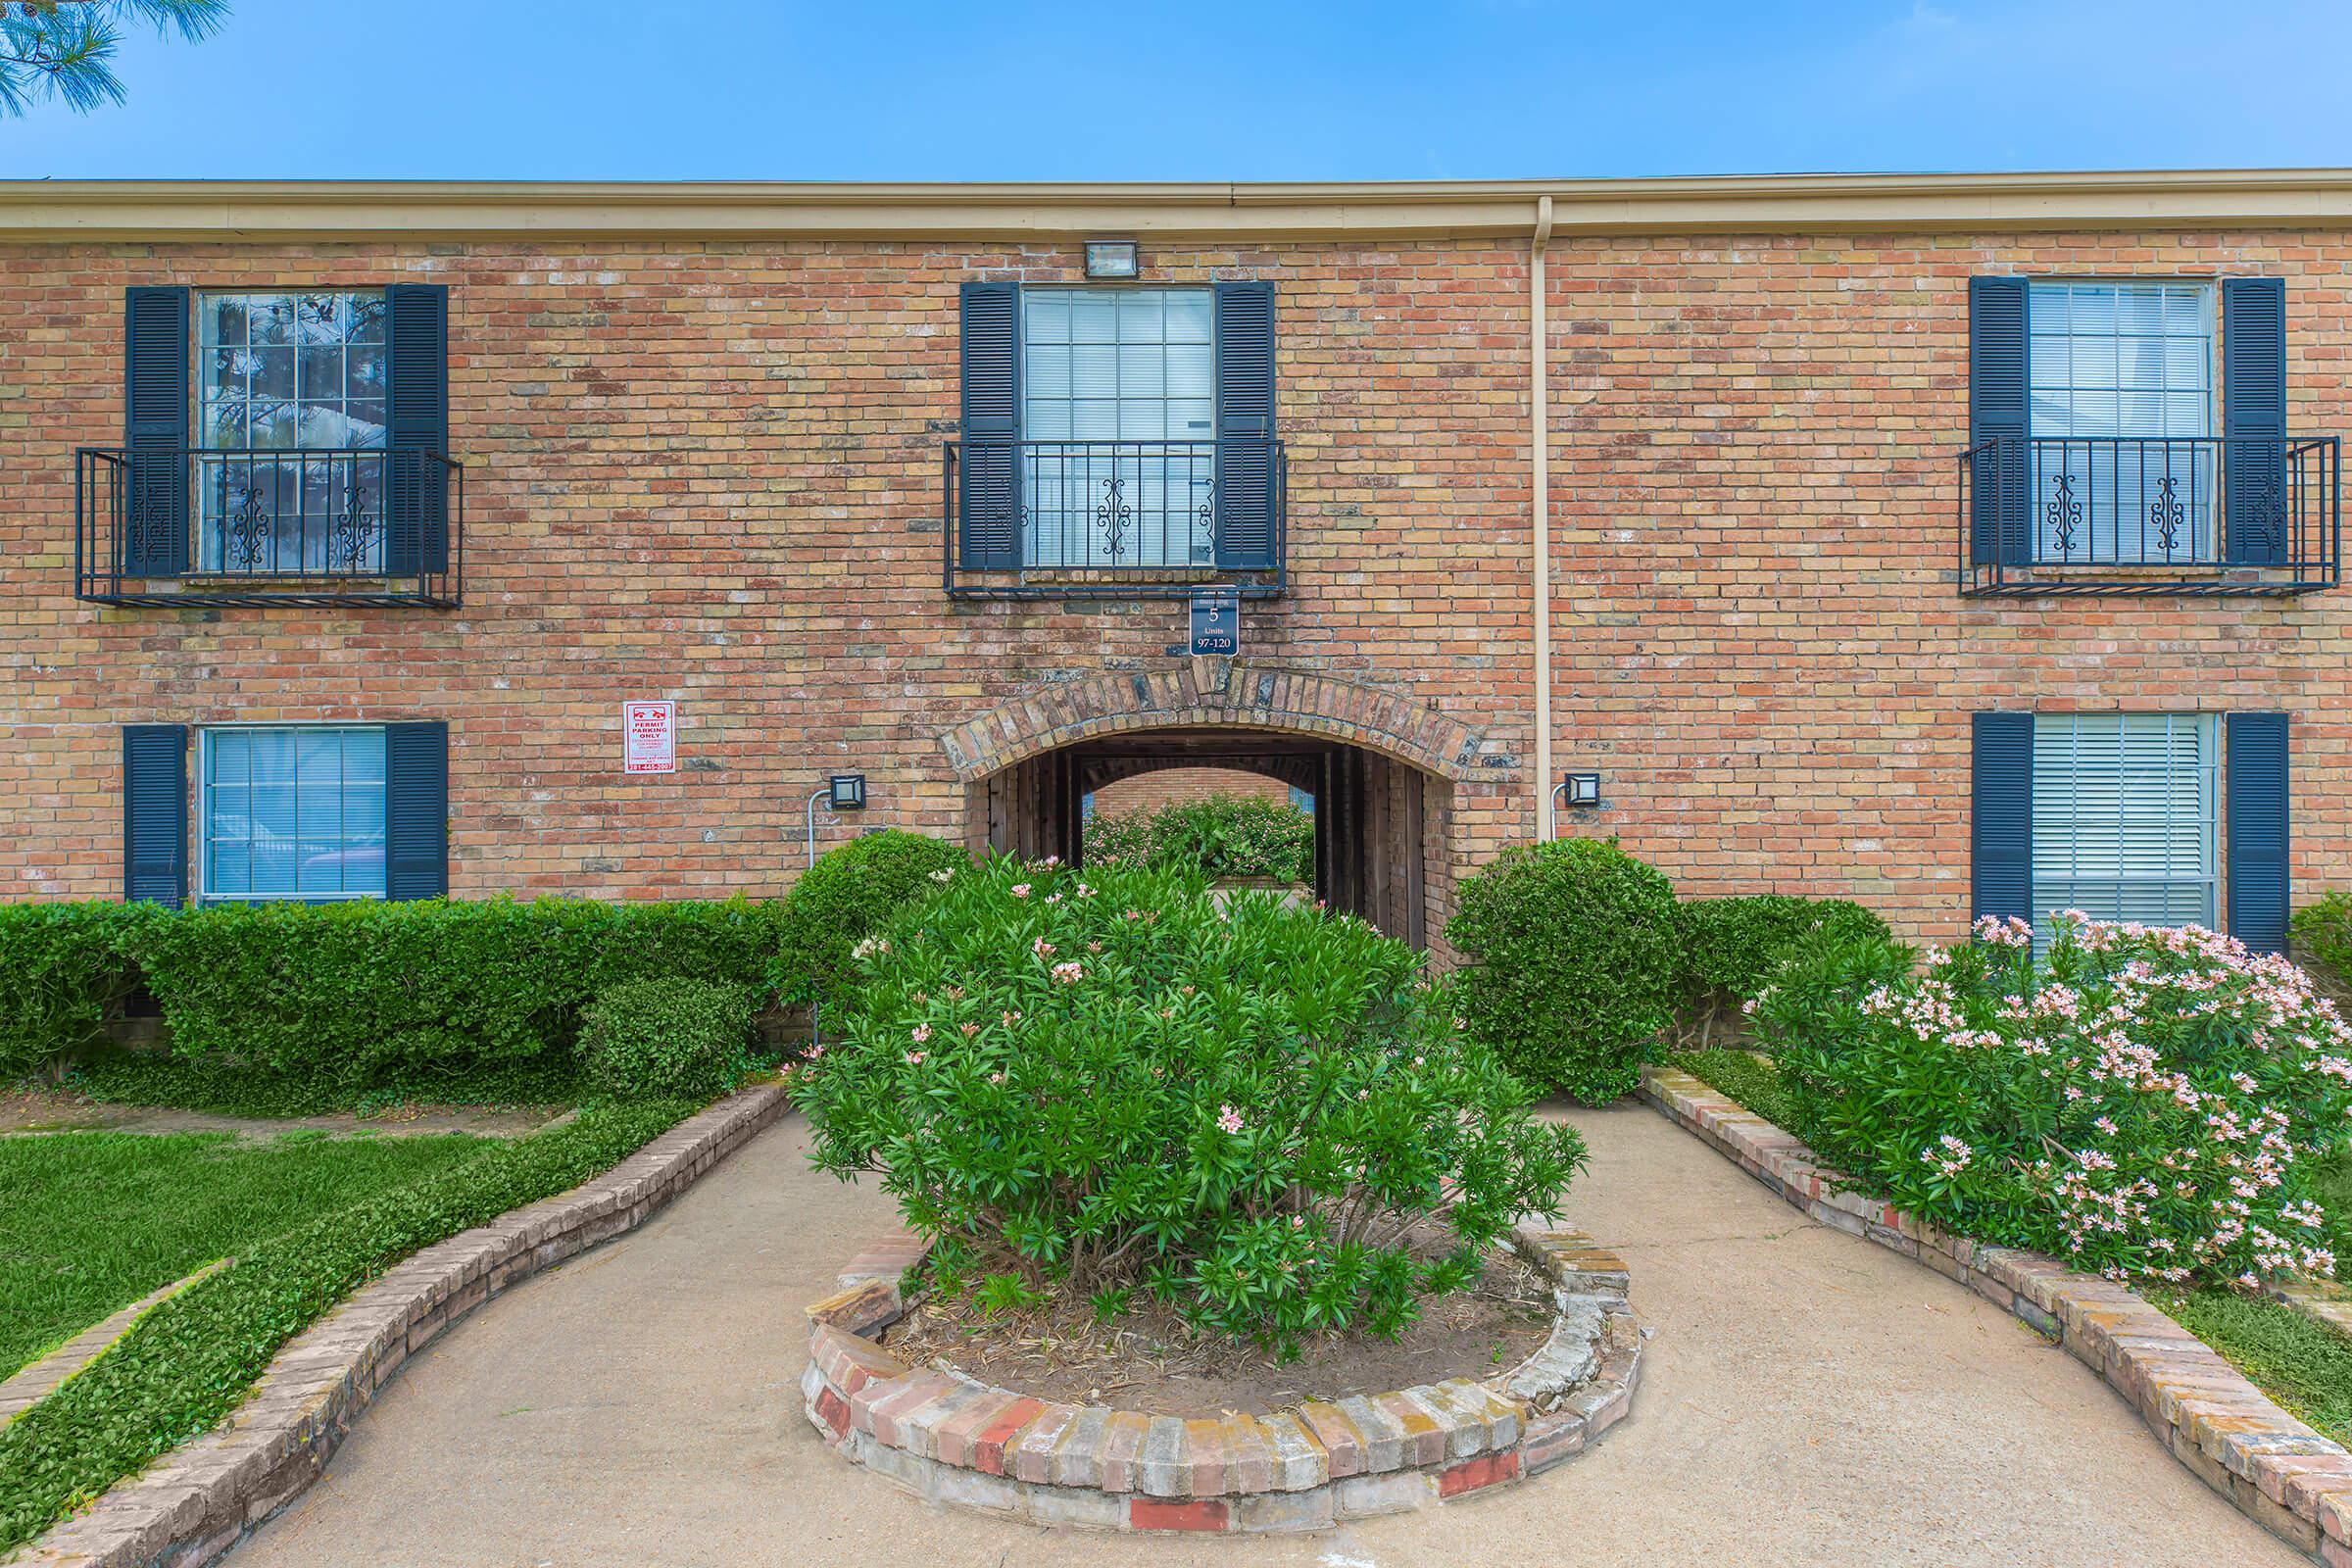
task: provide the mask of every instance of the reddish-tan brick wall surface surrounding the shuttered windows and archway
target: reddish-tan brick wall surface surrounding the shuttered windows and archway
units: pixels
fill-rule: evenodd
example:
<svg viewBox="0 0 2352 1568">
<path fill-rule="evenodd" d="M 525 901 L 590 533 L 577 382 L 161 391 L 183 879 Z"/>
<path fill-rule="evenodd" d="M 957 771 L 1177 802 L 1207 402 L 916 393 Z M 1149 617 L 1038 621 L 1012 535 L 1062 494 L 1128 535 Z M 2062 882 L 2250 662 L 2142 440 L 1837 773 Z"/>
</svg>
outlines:
<svg viewBox="0 0 2352 1568">
<path fill-rule="evenodd" d="M 2284 708 L 2296 896 L 2352 879 L 2345 595 L 1980 602 L 1952 585 L 1966 277 L 2279 273 L 2296 430 L 2347 423 L 2340 235 L 1564 240 L 1552 249 L 1562 769 L 1686 891 L 1858 896 L 1950 936 L 1976 708 Z M 802 799 L 957 835 L 941 736 L 1117 672 L 1174 604 L 950 604 L 938 440 L 957 284 L 1075 247 L 409 242 L 0 249 L 0 896 L 120 889 L 118 726 L 452 724 L 452 889 L 774 893 Z M 1148 247 L 1148 282 L 1279 284 L 1291 581 L 1244 675 L 1322 672 L 1465 726 L 1454 875 L 1531 832 L 1526 266 L 1517 242 Z M 71 597 L 75 444 L 120 440 L 122 287 L 452 289 L 463 611 Z M 623 778 L 623 698 L 682 771 Z M 1437 795 L 1432 792 L 1432 799 Z M 835 830 L 842 832 L 842 830 Z"/>
</svg>

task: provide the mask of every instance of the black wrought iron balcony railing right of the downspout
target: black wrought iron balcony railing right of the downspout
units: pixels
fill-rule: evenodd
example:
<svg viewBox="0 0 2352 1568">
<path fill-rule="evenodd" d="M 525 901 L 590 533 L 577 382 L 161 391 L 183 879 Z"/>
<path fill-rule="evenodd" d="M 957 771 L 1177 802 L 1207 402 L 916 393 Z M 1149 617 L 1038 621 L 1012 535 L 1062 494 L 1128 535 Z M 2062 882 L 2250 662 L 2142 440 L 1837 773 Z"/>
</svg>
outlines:
<svg viewBox="0 0 2352 1568">
<path fill-rule="evenodd" d="M 1964 595 L 2336 588 L 2333 435 L 1994 437 L 1959 454 Z"/>
</svg>

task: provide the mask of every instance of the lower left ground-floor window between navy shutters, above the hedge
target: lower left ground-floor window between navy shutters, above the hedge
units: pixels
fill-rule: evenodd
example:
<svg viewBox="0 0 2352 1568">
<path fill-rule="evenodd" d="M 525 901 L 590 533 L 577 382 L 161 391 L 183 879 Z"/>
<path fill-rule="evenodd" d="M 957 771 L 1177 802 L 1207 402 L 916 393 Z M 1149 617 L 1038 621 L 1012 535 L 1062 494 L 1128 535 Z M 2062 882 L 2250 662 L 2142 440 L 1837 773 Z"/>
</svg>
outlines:
<svg viewBox="0 0 2352 1568">
<path fill-rule="evenodd" d="M 202 898 L 383 898 L 383 729 L 202 731 Z"/>
</svg>

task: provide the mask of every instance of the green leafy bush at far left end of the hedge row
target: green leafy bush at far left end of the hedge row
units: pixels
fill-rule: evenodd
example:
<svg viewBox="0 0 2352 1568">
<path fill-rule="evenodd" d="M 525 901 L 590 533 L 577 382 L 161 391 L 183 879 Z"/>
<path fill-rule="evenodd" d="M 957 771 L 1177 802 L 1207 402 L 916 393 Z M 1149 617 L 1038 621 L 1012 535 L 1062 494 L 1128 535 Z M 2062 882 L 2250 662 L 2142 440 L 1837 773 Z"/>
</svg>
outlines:
<svg viewBox="0 0 2352 1568">
<path fill-rule="evenodd" d="M 127 943 L 155 905 L 0 905 L 0 1084 L 52 1074 L 101 1039 L 136 987 Z"/>
</svg>

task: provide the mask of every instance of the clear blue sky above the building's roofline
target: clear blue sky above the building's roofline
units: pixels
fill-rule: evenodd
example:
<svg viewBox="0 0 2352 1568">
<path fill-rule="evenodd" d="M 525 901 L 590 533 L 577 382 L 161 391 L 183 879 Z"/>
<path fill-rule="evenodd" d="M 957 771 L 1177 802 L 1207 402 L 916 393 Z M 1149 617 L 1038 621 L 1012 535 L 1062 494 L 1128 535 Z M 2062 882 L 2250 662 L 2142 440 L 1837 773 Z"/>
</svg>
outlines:
<svg viewBox="0 0 2352 1568">
<path fill-rule="evenodd" d="M 2352 165 L 2352 5 L 233 0 L 0 176 L 1503 179 Z"/>
</svg>

